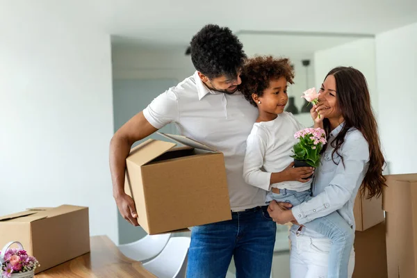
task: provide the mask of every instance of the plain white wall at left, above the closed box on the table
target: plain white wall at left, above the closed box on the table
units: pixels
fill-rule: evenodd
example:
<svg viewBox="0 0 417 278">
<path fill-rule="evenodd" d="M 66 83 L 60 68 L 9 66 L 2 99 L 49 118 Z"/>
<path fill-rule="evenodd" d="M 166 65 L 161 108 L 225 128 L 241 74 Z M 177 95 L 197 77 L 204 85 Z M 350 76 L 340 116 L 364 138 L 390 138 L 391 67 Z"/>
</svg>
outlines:
<svg viewBox="0 0 417 278">
<path fill-rule="evenodd" d="M 109 35 L 70 1 L 3 1 L 0 26 L 0 215 L 89 206 L 117 240 Z"/>
</svg>

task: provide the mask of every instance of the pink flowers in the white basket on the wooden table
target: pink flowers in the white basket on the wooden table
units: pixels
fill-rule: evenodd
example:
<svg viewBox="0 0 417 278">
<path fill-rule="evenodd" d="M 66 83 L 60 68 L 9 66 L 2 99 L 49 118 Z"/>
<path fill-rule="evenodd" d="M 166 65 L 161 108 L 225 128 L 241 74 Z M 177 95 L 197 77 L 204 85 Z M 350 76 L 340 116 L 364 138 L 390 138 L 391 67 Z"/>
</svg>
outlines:
<svg viewBox="0 0 417 278">
<path fill-rule="evenodd" d="M 10 278 L 14 273 L 32 271 L 40 266 L 38 260 L 33 256 L 28 256 L 25 250 L 9 249 L 5 252 L 3 259 L 4 262 L 0 265 L 1 278 Z"/>
</svg>

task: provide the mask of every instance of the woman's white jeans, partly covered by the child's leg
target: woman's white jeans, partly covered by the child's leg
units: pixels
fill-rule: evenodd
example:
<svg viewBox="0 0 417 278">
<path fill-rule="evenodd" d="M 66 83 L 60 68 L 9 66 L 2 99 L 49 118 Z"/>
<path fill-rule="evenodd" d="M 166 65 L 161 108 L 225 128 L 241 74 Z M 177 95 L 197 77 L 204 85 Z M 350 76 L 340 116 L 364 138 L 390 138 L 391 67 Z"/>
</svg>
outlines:
<svg viewBox="0 0 417 278">
<path fill-rule="evenodd" d="M 327 278 L 327 264 L 332 241 L 329 238 L 313 238 L 304 234 L 290 233 L 291 278 Z M 354 250 L 350 254 L 348 278 L 354 269 Z M 341 277 L 345 278 L 345 277 Z"/>
</svg>

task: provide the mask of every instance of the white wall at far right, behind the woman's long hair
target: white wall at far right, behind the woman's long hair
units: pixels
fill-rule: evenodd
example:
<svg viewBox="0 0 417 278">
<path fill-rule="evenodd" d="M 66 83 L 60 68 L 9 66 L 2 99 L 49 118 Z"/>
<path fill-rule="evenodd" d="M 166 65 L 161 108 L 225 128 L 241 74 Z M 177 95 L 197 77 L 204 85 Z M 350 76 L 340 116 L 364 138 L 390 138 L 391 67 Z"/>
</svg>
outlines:
<svg viewBox="0 0 417 278">
<path fill-rule="evenodd" d="M 376 36 L 379 134 L 391 174 L 417 172 L 417 22 Z"/>
</svg>

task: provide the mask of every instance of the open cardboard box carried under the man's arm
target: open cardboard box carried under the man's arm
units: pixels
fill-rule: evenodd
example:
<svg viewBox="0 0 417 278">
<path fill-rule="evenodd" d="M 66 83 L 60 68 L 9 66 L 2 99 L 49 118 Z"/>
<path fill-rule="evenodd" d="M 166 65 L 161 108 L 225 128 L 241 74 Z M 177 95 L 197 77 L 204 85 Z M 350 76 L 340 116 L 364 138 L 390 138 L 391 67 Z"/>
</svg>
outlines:
<svg viewBox="0 0 417 278">
<path fill-rule="evenodd" d="M 160 133 L 173 142 L 149 139 L 126 158 L 125 192 L 148 234 L 177 231 L 231 219 L 221 152 L 184 136 Z"/>
</svg>

